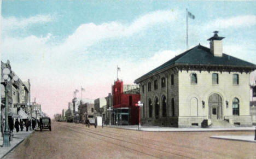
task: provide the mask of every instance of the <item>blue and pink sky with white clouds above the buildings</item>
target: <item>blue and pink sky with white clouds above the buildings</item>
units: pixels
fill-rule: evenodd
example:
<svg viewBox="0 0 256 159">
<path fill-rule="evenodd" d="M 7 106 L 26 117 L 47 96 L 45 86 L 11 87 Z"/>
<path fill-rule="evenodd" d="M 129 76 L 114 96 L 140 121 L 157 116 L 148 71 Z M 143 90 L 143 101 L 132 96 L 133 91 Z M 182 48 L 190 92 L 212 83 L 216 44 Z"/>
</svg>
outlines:
<svg viewBox="0 0 256 159">
<path fill-rule="evenodd" d="M 219 31 L 225 54 L 255 64 L 255 1 L 3 0 L 1 60 L 30 79 L 31 100 L 53 117 L 68 109 L 75 89 L 85 89 L 83 98 L 108 96 L 117 66 L 118 78 L 133 84 L 185 51 L 186 8 L 195 16 L 189 48 L 210 47 Z"/>
</svg>

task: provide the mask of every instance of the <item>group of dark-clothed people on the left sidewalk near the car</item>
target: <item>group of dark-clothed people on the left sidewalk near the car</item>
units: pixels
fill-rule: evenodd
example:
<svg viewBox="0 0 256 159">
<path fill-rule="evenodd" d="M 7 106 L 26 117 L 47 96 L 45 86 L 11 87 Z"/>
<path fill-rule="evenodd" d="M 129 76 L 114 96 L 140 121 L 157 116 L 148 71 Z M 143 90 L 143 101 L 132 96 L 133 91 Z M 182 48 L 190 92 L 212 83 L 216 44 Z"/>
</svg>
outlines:
<svg viewBox="0 0 256 159">
<path fill-rule="evenodd" d="M 32 123 L 32 128 L 34 129 L 36 127 L 36 120 L 32 120 L 32 122 L 27 118 L 25 121 L 16 119 L 15 122 L 13 122 L 13 119 L 9 120 L 9 129 L 11 132 L 13 132 L 13 129 L 15 127 L 16 132 L 23 131 L 24 126 L 26 127 L 26 131 L 28 131 L 28 128 L 31 129 L 31 123 Z M 39 121 L 38 121 L 39 123 Z M 39 124 L 38 124 L 39 126 Z"/>
</svg>

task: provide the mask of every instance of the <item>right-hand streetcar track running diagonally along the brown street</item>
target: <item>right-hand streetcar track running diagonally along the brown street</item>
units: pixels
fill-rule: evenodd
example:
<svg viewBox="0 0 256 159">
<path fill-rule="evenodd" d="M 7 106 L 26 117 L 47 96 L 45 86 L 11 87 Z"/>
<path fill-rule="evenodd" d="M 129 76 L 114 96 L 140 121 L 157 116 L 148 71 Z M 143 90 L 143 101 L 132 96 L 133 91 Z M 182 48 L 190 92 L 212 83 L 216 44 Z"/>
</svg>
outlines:
<svg viewBox="0 0 256 159">
<path fill-rule="evenodd" d="M 83 129 L 82 127 L 77 127 L 77 126 L 75 126 L 76 128 L 79 128 L 79 129 Z M 83 129 L 84 130 L 84 129 Z M 95 132 L 101 132 L 101 131 L 97 131 L 96 129 L 90 129 L 91 131 L 95 131 Z M 104 131 L 102 132 L 102 133 L 108 133 L 108 134 L 110 134 L 110 135 L 113 135 L 112 133 L 112 131 L 106 131 L 106 129 L 104 129 Z M 116 133 L 116 132 L 114 132 L 115 134 L 119 134 L 119 137 L 122 137 L 122 136 L 124 136 L 123 134 L 120 134 L 120 133 Z M 125 137 L 126 136 L 129 136 L 129 135 L 125 135 Z M 143 142 L 146 142 L 146 143 L 148 143 L 148 144 L 152 144 L 152 143 L 150 143 L 150 142 L 148 142 L 147 140 L 152 140 L 152 139 L 146 139 L 146 138 L 141 138 L 141 137 L 133 137 L 133 136 L 129 136 L 130 137 L 130 139 L 131 140 L 136 140 L 136 139 L 133 139 L 133 138 L 139 138 L 139 139 L 141 139 L 141 140 L 143 140 Z M 158 141 L 158 140 L 152 140 L 153 142 L 160 142 L 160 143 L 164 143 L 164 144 L 166 144 L 166 145 L 170 145 L 170 146 L 175 146 L 176 148 L 185 148 L 185 149 L 188 149 L 188 151 L 193 151 L 194 149 L 195 150 L 198 150 L 198 151 L 202 151 L 202 149 L 199 149 L 199 148 L 192 148 L 192 147 L 190 147 L 190 146 L 184 146 L 184 145 L 177 145 L 177 144 L 174 144 L 174 143 L 166 143 L 166 142 L 161 142 L 161 141 Z M 163 148 L 168 148 L 168 149 L 173 149 L 172 147 L 170 147 L 170 146 L 165 146 L 165 145 L 159 145 L 159 144 L 152 144 L 152 145 L 155 145 L 155 146 L 161 146 L 161 147 L 163 147 Z M 193 154 L 193 155 L 199 155 L 199 156 L 201 156 L 201 154 L 198 154 L 198 153 L 196 153 L 196 152 L 188 152 L 188 151 L 182 151 L 182 150 L 177 150 L 177 149 L 174 149 L 174 150 L 176 150 L 176 151 L 181 151 L 181 152 L 185 152 L 186 154 Z M 213 154 L 214 155 L 219 155 L 220 157 L 223 157 L 223 156 L 225 156 L 225 157 L 230 157 L 230 158 L 240 158 L 240 157 L 236 157 L 236 156 L 231 156 L 231 155 L 229 155 L 229 154 L 221 154 L 221 153 L 219 153 L 219 152 L 214 152 L 214 151 L 209 151 L 209 150 L 203 150 L 204 152 L 207 152 L 207 154 L 209 154 L 209 155 L 211 155 L 211 156 L 213 156 Z M 208 157 L 211 157 L 211 156 L 208 156 Z M 211 158 L 216 158 L 216 156 L 214 156 L 214 157 L 211 157 Z"/>
</svg>

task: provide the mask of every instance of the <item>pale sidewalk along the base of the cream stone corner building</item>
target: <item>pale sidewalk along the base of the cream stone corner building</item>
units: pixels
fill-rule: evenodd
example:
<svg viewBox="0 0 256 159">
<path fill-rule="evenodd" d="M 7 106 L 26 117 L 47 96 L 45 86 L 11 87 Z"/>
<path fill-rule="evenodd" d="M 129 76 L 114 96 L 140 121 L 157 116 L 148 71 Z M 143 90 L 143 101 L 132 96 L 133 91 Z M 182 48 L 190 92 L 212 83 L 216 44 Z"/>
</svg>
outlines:
<svg viewBox="0 0 256 159">
<path fill-rule="evenodd" d="M 137 125 L 104 125 L 106 127 L 123 128 L 138 130 Z M 189 127 L 189 128 L 177 128 L 177 127 L 160 127 L 160 126 L 141 126 L 139 131 L 151 131 L 151 132 L 205 132 L 205 131 L 254 131 L 253 127 L 214 127 L 214 128 L 201 128 L 201 127 Z"/>
</svg>

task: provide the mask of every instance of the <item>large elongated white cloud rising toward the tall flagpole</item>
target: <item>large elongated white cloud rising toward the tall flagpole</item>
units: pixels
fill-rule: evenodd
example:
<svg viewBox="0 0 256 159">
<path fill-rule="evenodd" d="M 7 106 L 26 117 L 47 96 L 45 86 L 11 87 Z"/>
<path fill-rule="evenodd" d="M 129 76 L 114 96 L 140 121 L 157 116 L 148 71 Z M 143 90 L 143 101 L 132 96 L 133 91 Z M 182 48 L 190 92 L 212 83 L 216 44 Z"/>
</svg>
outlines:
<svg viewBox="0 0 256 159">
<path fill-rule="evenodd" d="M 66 39 L 63 47 L 58 50 L 81 51 L 79 48 L 83 50 L 85 46 L 90 46 L 103 39 L 132 36 L 139 31 L 145 30 L 149 26 L 172 22 L 178 18 L 178 15 L 178 11 L 159 10 L 138 17 L 131 25 L 125 25 L 115 21 L 102 23 L 101 25 L 86 23 L 80 25 L 77 30 Z"/>
</svg>

